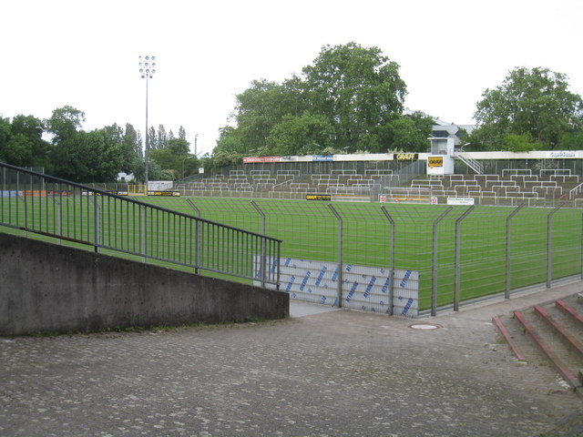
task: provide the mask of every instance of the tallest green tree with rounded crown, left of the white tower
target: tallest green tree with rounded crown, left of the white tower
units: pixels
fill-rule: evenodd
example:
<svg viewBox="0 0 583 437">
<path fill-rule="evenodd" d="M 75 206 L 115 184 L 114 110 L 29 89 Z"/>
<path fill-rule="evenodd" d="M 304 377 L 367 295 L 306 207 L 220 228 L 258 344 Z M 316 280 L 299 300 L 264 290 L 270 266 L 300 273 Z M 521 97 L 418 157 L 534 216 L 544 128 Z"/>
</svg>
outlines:
<svg viewBox="0 0 583 437">
<path fill-rule="evenodd" d="M 302 70 L 305 91 L 316 114 L 328 117 L 336 147 L 348 151 L 379 148 L 379 130 L 403 112 L 406 86 L 399 66 L 378 47 L 353 42 L 324 46 Z"/>
</svg>

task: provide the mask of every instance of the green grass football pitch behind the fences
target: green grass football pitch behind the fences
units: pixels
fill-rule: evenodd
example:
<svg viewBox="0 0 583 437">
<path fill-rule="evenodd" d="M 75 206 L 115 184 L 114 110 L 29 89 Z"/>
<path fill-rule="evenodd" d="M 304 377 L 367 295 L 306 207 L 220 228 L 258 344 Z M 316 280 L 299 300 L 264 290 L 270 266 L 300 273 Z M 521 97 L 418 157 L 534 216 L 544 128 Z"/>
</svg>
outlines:
<svg viewBox="0 0 583 437">
<path fill-rule="evenodd" d="M 453 302 L 456 270 L 459 272 L 461 300 L 506 290 L 506 269 L 509 271 L 511 289 L 545 282 L 549 253 L 552 279 L 581 272 L 580 209 L 517 210 L 478 206 L 463 218 L 468 207 L 387 204 L 383 210 L 381 204 L 338 202 L 332 204 L 332 209 L 326 202 L 305 200 L 257 199 L 251 204 L 249 199 L 233 198 L 137 199 L 257 233 L 262 233 L 264 226 L 265 234 L 283 240 L 282 257 L 338 261 L 342 253 L 345 264 L 388 268 L 391 266 L 391 253 L 394 251 L 395 269 L 413 269 L 420 272 L 421 310 L 431 306 L 434 288 L 437 290 L 439 306 Z M 55 216 L 45 212 L 46 205 L 43 207 L 42 202 L 47 200 L 37 198 L 36 201 L 37 206 L 35 201 L 31 201 L 28 221 L 30 222 L 32 215 L 33 221 L 45 220 L 47 226 L 52 225 L 55 228 L 55 223 L 49 223 L 51 220 L 55 221 Z M 87 236 L 91 239 L 95 228 L 94 211 L 89 203 L 86 201 L 83 205 L 77 205 L 79 200 L 72 198 L 64 201 L 67 205 L 66 217 L 72 223 L 75 223 L 78 216 L 85 218 L 85 223 L 78 225 L 85 228 L 80 237 Z M 2 200 L 2 221 L 6 221 L 8 215 L 23 213 L 22 208 L 16 210 L 15 202 L 15 198 Z M 51 208 L 56 210 L 55 205 L 51 205 Z M 507 218 L 511 213 L 515 215 L 510 220 L 508 229 Z M 124 241 L 126 248 L 131 248 L 132 245 L 135 247 L 142 238 L 135 234 L 131 220 L 127 220 L 131 214 L 131 208 L 100 210 L 100 219 L 116 217 L 113 233 L 116 239 L 119 236 Z M 549 214 L 552 214 L 550 228 Z M 391 220 L 394 222 L 394 229 Z M 547 229 L 550 229 L 550 241 L 547 240 Z M 193 235 L 188 226 L 167 223 L 165 218 L 160 218 L 150 220 L 148 244 L 164 241 L 164 245 L 160 246 L 162 253 L 156 258 L 165 258 L 177 251 L 179 257 L 182 257 L 187 256 L 182 255 L 182 252 L 189 252 Z M 100 238 L 105 237 L 102 235 Z M 111 239 L 111 235 L 108 238 Z M 457 262 L 456 239 L 459 248 Z M 549 244 L 550 252 L 547 251 Z M 509 252 L 506 251 L 507 248 Z M 211 256 L 220 257 L 217 248 L 212 250 L 215 253 Z M 169 265 L 161 260 L 153 262 Z"/>
</svg>

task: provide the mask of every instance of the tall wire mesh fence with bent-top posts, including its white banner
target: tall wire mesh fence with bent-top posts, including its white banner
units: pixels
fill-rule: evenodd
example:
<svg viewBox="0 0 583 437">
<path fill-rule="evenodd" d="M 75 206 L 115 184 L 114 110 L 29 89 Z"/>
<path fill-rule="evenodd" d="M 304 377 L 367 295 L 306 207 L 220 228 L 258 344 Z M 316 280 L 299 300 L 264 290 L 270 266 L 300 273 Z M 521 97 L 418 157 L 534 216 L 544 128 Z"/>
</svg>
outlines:
<svg viewBox="0 0 583 437">
<path fill-rule="evenodd" d="M 282 239 L 292 299 L 414 317 L 583 273 L 578 208 L 149 200 Z"/>
</svg>

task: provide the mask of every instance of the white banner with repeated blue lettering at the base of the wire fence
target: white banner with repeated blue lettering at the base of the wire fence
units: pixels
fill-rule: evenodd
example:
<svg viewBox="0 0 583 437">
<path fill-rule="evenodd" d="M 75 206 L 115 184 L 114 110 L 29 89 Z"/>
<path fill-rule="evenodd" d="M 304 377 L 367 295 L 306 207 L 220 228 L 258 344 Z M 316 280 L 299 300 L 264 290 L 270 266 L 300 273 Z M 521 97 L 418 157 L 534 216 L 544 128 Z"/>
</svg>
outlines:
<svg viewBox="0 0 583 437">
<path fill-rule="evenodd" d="M 259 257 L 256 278 L 261 278 Z M 269 264 L 273 267 L 270 259 Z M 342 306 L 355 310 L 390 312 L 390 269 L 344 264 Z M 293 300 L 338 307 L 338 264 L 314 259 L 281 258 L 280 290 Z M 255 285 L 261 286 L 256 280 Z M 275 288 L 268 285 L 269 288 Z M 394 270 L 394 315 L 416 318 L 419 311 L 419 272 Z"/>
</svg>

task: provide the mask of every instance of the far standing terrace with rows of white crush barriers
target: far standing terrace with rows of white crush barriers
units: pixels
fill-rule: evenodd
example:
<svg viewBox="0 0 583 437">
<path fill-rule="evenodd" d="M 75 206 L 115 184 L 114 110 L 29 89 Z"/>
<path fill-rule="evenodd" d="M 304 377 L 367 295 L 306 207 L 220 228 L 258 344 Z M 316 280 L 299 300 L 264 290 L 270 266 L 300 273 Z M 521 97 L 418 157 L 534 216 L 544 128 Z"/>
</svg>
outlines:
<svg viewBox="0 0 583 437">
<path fill-rule="evenodd" d="M 269 193 L 269 197 L 283 198 L 292 194 L 339 194 L 365 196 L 381 193 L 387 196 L 416 197 L 473 197 L 473 198 L 561 198 L 580 185 L 578 175 L 568 169 L 544 169 L 534 174 L 530 169 L 504 169 L 501 175 L 445 175 L 413 178 L 400 183 L 392 170 L 332 170 L 326 174 L 302 175 L 299 169 L 231 170 L 228 176 L 202 178 L 178 185 L 194 196 L 211 195 L 239 197 L 249 193 Z M 235 193 L 235 194 L 233 194 Z"/>
</svg>

